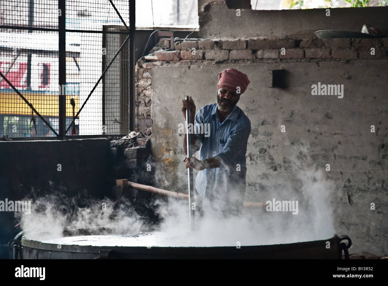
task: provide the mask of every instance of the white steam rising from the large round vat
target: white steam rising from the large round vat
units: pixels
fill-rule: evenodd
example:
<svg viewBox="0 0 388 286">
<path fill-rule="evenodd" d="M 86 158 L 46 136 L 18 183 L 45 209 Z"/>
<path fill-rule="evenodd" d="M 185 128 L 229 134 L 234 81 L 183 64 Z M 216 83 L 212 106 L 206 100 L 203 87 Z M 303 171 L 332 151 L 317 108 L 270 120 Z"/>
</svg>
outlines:
<svg viewBox="0 0 388 286">
<path fill-rule="evenodd" d="M 244 209 L 242 217 L 223 219 L 214 210 L 201 219 L 197 215 L 196 229 L 191 232 L 187 201 L 154 200 L 150 204 L 161 218 L 158 230 L 134 236 L 149 221 L 135 212 L 130 199 L 123 197 L 113 202 L 108 198 L 67 198 L 55 191 L 53 195 L 35 198 L 31 214 L 16 213 L 16 219 L 21 221 L 27 237 L 53 243 L 67 243 L 64 236 L 85 234 L 115 234 L 121 241 L 115 245 L 133 246 L 270 245 L 329 239 L 335 233 L 329 201 L 334 184 L 322 168 L 317 169 L 309 162 L 305 155 L 308 148 L 293 153 L 295 156 L 289 158 L 292 164 L 287 170 L 293 175 L 292 182 L 279 177 L 281 187 L 268 190 L 259 200 L 297 200 L 296 215 Z M 165 178 L 156 177 L 156 181 L 162 179 Z M 109 239 L 104 243 L 109 243 Z"/>
</svg>

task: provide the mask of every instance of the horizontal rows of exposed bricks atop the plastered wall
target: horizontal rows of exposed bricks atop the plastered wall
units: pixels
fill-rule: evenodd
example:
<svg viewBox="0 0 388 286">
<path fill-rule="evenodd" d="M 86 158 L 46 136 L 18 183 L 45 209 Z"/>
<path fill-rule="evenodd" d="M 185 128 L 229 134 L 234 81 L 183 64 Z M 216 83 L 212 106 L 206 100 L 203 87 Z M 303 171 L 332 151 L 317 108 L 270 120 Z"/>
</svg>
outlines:
<svg viewBox="0 0 388 286">
<path fill-rule="evenodd" d="M 371 48 L 374 48 L 374 55 L 371 55 Z M 178 42 L 175 49 L 158 52 L 158 60 L 369 60 L 387 59 L 388 38 L 199 40 Z"/>
</svg>

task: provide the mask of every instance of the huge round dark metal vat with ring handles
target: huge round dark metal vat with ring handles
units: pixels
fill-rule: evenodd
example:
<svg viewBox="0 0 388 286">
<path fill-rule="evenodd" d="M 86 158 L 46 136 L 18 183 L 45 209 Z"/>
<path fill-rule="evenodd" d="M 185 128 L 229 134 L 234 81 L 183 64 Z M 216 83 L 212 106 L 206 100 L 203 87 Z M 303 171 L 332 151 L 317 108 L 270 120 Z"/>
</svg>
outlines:
<svg viewBox="0 0 388 286">
<path fill-rule="evenodd" d="M 92 237 L 92 239 L 90 239 Z M 99 236 L 74 236 L 71 244 L 42 242 L 28 239 L 21 240 L 20 257 L 24 259 L 103 259 L 103 258 L 326 258 L 341 259 L 342 251 L 347 255 L 351 241 L 348 236 L 334 235 L 330 239 L 288 243 L 278 245 L 255 246 L 214 246 L 214 247 L 171 247 L 171 246 L 122 246 L 118 239 L 100 236 L 104 244 L 99 243 Z M 88 241 L 90 239 L 90 241 Z M 347 245 L 341 243 L 343 239 Z M 93 243 L 94 241 L 94 243 Z M 111 243 L 109 243 L 111 241 Z M 97 242 L 97 243 L 96 243 Z M 327 248 L 328 242 L 330 248 Z M 90 245 L 88 245 L 90 243 Z M 81 244 L 81 245 L 80 245 Z M 121 246 L 119 246 L 121 245 Z M 17 246 L 16 246 L 17 247 Z"/>
</svg>

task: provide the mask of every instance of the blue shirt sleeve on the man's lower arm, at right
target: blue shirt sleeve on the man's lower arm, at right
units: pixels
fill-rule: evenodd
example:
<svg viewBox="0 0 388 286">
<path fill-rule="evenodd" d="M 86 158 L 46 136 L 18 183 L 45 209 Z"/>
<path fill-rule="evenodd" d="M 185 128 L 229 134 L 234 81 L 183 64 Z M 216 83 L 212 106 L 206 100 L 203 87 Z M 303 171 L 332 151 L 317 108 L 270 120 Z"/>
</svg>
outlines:
<svg viewBox="0 0 388 286">
<path fill-rule="evenodd" d="M 240 152 L 246 150 L 248 137 L 251 133 L 251 124 L 238 124 L 231 130 L 231 135 L 223 147 L 223 150 L 214 156 L 221 159 L 224 165 L 229 165 L 233 162 Z"/>
</svg>

